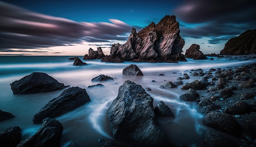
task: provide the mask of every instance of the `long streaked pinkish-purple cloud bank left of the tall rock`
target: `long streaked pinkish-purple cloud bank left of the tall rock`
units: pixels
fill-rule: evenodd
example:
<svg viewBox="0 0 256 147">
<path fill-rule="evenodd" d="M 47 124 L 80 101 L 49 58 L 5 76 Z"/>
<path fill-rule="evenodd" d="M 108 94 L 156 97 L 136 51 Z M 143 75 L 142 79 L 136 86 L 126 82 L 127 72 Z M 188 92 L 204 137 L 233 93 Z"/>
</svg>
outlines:
<svg viewBox="0 0 256 147">
<path fill-rule="evenodd" d="M 0 48 L 47 48 L 87 42 L 127 40 L 132 26 L 119 20 L 75 22 L 0 1 Z"/>
</svg>

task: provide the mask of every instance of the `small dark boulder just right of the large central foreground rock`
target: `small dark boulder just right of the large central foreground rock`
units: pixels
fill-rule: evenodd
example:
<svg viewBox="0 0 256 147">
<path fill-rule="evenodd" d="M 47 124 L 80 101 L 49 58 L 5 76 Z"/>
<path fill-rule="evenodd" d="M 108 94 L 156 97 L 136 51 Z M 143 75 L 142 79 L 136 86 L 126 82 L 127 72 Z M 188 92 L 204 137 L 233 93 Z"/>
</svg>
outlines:
<svg viewBox="0 0 256 147">
<path fill-rule="evenodd" d="M 174 117 L 171 109 L 163 101 L 159 101 L 154 108 L 155 115 L 160 117 Z"/>
</svg>

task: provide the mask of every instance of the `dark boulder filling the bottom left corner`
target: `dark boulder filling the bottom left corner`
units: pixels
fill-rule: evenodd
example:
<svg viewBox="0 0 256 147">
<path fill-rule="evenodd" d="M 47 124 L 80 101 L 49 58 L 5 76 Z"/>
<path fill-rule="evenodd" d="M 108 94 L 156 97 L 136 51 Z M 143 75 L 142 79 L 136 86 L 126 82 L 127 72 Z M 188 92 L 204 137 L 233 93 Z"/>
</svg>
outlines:
<svg viewBox="0 0 256 147">
<path fill-rule="evenodd" d="M 0 147 L 16 147 L 20 142 L 20 139 L 20 127 L 0 127 Z"/>
</svg>

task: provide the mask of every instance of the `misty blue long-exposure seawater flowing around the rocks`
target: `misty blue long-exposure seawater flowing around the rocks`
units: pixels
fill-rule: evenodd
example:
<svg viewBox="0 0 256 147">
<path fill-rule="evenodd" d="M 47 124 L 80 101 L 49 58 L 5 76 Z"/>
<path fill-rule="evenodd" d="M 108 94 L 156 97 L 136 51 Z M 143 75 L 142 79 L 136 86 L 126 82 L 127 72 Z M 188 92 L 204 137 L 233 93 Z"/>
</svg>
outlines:
<svg viewBox="0 0 256 147">
<path fill-rule="evenodd" d="M 179 63 L 104 63 L 98 59 L 82 60 L 88 66 L 73 66 L 73 61 L 68 58 L 74 56 L 0 56 L 0 110 L 10 112 L 15 118 L 0 122 L 0 127 L 19 126 L 22 129 L 22 139 L 26 139 L 36 133 L 41 125 L 34 125 L 34 114 L 48 101 L 58 97 L 63 90 L 38 94 L 14 95 L 10 83 L 19 80 L 32 72 L 45 72 L 65 85 L 85 88 L 91 101 L 76 110 L 57 117 L 64 127 L 61 138 L 61 147 L 101 147 L 106 141 L 116 141 L 117 145 L 128 147 L 112 138 L 108 125 L 107 109 L 117 97 L 119 87 L 126 80 L 133 81 L 154 98 L 153 105 L 164 101 L 171 108 L 175 118 L 158 118 L 159 126 L 164 131 L 174 146 L 187 145 L 190 147 L 203 146 L 202 132 L 211 129 L 202 124 L 204 114 L 198 112 L 195 101 L 180 101 L 179 96 L 186 90 L 177 88 L 160 88 L 167 81 L 176 81 L 177 77 L 183 77 L 184 73 L 190 75 L 190 70 L 199 69 L 208 71 L 211 68 L 234 68 L 256 59 L 244 60 L 243 57 L 233 59 L 213 57 L 213 60 L 193 60 Z M 82 56 L 78 56 L 83 59 Z M 210 57 L 209 57 L 210 58 Z M 122 75 L 122 70 L 130 64 L 136 64 L 144 76 Z M 159 74 L 164 76 L 159 76 Z M 99 75 L 108 75 L 114 81 L 101 82 L 103 87 L 88 88 L 98 82 L 92 82 L 92 78 Z M 183 79 L 189 83 L 199 77 L 190 76 Z M 156 82 L 150 82 L 155 80 Z M 200 96 L 204 96 L 200 90 Z M 103 142 L 98 142 L 104 138 Z"/>
</svg>

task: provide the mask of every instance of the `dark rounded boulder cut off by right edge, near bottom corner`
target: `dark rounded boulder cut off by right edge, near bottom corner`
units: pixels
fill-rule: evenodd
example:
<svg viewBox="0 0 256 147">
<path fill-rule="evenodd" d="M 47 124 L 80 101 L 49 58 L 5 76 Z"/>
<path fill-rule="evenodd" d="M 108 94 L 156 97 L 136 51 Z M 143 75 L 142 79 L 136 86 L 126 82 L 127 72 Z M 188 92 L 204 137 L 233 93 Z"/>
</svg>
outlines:
<svg viewBox="0 0 256 147">
<path fill-rule="evenodd" d="M 252 136 L 256 137 L 256 112 L 251 112 L 249 116 L 246 118 L 243 125 L 245 132 Z"/>
</svg>

